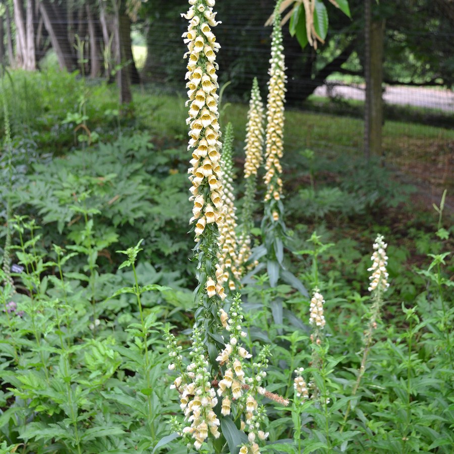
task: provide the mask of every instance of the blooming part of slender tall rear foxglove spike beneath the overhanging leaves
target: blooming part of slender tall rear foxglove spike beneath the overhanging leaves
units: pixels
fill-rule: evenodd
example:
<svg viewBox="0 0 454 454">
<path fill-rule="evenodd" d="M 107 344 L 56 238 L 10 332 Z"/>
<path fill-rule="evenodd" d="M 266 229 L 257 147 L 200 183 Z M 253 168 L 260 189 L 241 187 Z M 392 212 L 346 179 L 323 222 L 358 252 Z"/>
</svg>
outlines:
<svg viewBox="0 0 454 454">
<path fill-rule="evenodd" d="M 265 170 L 264 177 L 267 186 L 265 202 L 271 198 L 279 200 L 282 192 L 282 182 L 279 175 L 282 168 L 279 163 L 279 158 L 283 152 L 283 123 L 284 123 L 284 102 L 285 102 L 285 83 L 287 77 L 285 75 L 284 55 L 282 53 L 282 31 L 280 29 L 280 13 L 279 4 L 277 3 L 274 10 L 273 34 L 271 42 L 271 67 L 269 69 L 268 82 L 268 102 L 267 102 L 267 126 L 265 137 Z M 273 220 L 276 221 L 276 216 L 273 213 Z"/>
</svg>

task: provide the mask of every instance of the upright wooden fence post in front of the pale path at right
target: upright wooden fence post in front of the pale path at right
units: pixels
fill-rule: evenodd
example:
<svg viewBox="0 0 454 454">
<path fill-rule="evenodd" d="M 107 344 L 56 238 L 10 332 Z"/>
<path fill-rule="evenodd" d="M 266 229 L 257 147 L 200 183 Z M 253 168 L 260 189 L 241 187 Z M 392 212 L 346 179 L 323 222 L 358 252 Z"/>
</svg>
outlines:
<svg viewBox="0 0 454 454">
<path fill-rule="evenodd" d="M 372 21 L 370 27 L 370 151 L 382 155 L 381 131 L 383 125 L 383 32 L 385 22 Z"/>
</svg>

